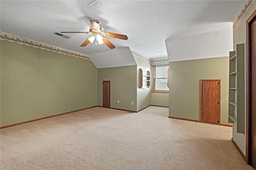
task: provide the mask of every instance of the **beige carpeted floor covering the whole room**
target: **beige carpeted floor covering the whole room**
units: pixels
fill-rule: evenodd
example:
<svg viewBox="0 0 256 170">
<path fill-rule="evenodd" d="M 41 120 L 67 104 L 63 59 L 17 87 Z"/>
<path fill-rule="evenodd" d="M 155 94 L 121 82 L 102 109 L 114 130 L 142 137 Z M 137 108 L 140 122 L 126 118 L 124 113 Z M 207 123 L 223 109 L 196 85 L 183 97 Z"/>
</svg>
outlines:
<svg viewBox="0 0 256 170">
<path fill-rule="evenodd" d="M 232 128 L 95 107 L 1 129 L 2 170 L 250 170 Z"/>
</svg>

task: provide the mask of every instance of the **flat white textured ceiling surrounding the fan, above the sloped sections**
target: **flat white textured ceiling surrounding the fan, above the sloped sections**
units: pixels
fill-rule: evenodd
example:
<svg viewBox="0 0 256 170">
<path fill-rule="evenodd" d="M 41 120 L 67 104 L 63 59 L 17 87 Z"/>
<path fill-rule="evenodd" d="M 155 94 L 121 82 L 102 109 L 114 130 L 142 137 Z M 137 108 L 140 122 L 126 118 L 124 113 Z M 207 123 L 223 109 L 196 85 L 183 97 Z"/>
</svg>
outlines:
<svg viewBox="0 0 256 170">
<path fill-rule="evenodd" d="M 80 47 L 90 34 L 89 20 L 100 20 L 104 31 L 125 34 L 128 40 L 108 38 L 116 47 L 130 47 L 150 59 L 167 58 L 165 40 L 182 36 L 184 28 L 233 22 L 244 0 L 94 0 L 3 1 L 0 30 L 86 55 L 109 51 L 105 44 Z M 203 28 L 203 27 L 200 27 Z M 189 32 L 189 29 L 185 29 Z M 198 32 L 204 30 L 198 30 Z M 187 34 L 187 33 L 186 33 Z M 156 55 L 160 53 L 160 55 Z"/>
</svg>

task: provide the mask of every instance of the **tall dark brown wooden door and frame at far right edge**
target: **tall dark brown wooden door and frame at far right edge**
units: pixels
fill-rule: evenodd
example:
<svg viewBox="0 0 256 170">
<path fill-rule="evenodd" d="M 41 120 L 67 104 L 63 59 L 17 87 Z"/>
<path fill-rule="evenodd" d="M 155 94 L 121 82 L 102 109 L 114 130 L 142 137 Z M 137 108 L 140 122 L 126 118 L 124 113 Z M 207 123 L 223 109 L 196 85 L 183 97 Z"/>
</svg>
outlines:
<svg viewBox="0 0 256 170">
<path fill-rule="evenodd" d="M 256 169 L 256 10 L 246 26 L 246 162 Z"/>
</svg>

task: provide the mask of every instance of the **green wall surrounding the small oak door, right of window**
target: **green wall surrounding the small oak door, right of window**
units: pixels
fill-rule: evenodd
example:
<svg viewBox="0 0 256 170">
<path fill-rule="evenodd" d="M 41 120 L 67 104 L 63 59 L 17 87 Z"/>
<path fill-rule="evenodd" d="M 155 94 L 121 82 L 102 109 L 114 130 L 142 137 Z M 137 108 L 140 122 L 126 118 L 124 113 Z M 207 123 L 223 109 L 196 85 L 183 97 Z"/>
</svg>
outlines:
<svg viewBox="0 0 256 170">
<path fill-rule="evenodd" d="M 200 120 L 200 79 L 220 79 L 220 123 L 228 123 L 228 57 L 170 62 L 169 116 Z"/>
</svg>

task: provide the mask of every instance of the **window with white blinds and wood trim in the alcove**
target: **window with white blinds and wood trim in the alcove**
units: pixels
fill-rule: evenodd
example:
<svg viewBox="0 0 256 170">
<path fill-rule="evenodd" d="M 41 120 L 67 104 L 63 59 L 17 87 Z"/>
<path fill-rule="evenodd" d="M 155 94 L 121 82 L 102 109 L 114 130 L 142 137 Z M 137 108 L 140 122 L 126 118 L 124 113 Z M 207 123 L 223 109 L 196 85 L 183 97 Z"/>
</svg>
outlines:
<svg viewBox="0 0 256 170">
<path fill-rule="evenodd" d="M 169 93 L 169 65 L 153 65 L 153 90 L 152 92 Z"/>
</svg>

